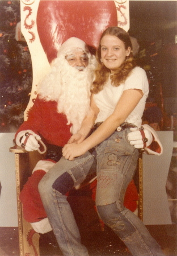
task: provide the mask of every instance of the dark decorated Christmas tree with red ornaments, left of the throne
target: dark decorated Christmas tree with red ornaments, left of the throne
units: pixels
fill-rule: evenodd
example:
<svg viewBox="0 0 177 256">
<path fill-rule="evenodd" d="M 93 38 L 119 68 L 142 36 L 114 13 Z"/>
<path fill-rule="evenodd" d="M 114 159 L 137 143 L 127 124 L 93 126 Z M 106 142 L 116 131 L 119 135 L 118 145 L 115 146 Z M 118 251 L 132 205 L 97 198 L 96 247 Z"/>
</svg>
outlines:
<svg viewBox="0 0 177 256">
<path fill-rule="evenodd" d="M 0 132 L 23 123 L 32 86 L 27 43 L 19 36 L 20 1 L 0 1 Z M 18 29 L 17 29 L 18 28 Z"/>
</svg>

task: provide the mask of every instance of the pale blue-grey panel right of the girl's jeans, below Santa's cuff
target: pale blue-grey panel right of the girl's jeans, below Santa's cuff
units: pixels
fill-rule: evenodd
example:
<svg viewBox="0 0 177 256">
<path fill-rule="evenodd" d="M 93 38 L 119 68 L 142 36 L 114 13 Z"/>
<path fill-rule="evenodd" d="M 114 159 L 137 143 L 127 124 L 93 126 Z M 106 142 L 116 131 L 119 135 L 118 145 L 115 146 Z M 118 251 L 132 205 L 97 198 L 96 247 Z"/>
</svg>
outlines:
<svg viewBox="0 0 177 256">
<path fill-rule="evenodd" d="M 143 155 L 143 222 L 145 225 L 171 224 L 166 182 L 172 157 L 173 132 L 157 131 L 163 154 Z"/>
</svg>

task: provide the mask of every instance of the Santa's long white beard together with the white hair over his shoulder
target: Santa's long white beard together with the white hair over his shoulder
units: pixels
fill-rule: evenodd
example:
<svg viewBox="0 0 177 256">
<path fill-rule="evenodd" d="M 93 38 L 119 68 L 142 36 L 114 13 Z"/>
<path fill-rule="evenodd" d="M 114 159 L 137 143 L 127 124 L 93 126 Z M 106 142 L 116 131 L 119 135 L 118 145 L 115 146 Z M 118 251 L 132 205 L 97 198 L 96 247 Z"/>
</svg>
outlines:
<svg viewBox="0 0 177 256">
<path fill-rule="evenodd" d="M 70 129 L 72 134 L 77 133 L 80 129 L 82 121 L 90 109 L 90 88 L 94 68 L 93 63 L 83 71 L 78 71 L 71 67 L 66 60 L 61 61 L 60 59 L 58 63 L 57 61 L 54 63 L 49 75 L 40 85 L 39 97 L 45 101 L 58 102 L 58 113 L 66 115 L 67 125 L 72 123 Z"/>
</svg>

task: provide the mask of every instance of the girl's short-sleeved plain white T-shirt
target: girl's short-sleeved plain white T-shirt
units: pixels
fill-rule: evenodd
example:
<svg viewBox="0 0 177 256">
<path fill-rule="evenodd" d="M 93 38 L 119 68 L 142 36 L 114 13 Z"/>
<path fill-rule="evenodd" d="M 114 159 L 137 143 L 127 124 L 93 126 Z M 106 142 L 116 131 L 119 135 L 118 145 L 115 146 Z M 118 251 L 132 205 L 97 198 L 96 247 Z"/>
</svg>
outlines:
<svg viewBox="0 0 177 256">
<path fill-rule="evenodd" d="M 149 93 L 149 84 L 146 72 L 140 67 L 135 67 L 127 80 L 117 87 L 111 85 L 111 79 L 109 78 L 107 83 L 104 85 L 103 90 L 98 94 L 94 94 L 95 104 L 100 110 L 95 123 L 103 122 L 113 113 L 121 94 L 123 94 L 124 90 L 128 89 L 140 89 L 143 92 L 143 96 L 132 113 L 129 114 L 125 122 L 132 123 L 138 127 L 141 126 L 141 117 L 144 112 L 146 98 Z"/>
</svg>

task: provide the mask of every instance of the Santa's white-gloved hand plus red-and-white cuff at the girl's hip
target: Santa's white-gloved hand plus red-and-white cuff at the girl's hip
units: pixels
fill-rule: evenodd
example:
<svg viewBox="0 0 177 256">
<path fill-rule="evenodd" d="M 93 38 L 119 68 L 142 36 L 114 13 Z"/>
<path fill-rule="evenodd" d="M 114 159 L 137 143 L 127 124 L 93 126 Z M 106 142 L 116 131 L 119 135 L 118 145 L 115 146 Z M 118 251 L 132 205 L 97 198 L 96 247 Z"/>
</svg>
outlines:
<svg viewBox="0 0 177 256">
<path fill-rule="evenodd" d="M 162 155 L 163 146 L 155 130 L 149 125 L 130 128 L 128 140 L 136 148 L 144 148 L 145 154 Z"/>
</svg>

